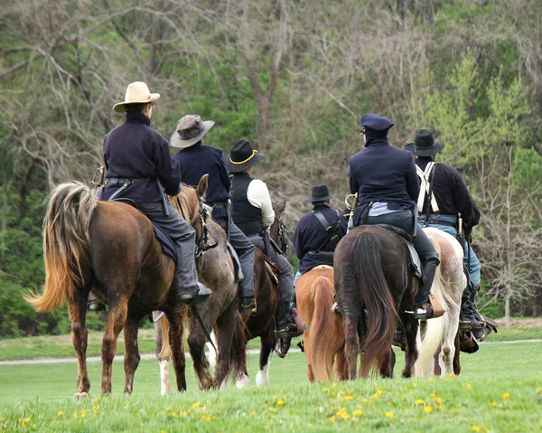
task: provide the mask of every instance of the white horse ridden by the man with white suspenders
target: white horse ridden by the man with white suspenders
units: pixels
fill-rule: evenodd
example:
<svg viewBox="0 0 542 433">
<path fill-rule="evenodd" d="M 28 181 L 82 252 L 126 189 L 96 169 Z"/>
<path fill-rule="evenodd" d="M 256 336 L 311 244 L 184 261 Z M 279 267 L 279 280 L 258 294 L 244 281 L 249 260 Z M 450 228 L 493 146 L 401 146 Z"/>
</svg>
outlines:
<svg viewBox="0 0 542 433">
<path fill-rule="evenodd" d="M 440 317 L 427 320 L 425 330 L 420 329 L 415 374 L 432 375 L 435 362 L 438 362 L 437 371 L 441 375 L 447 375 L 454 372 L 453 358 L 461 297 L 467 286 L 467 278 L 463 272 L 463 248 L 452 235 L 444 231 L 434 228 L 426 228 L 424 231 L 435 245 L 441 259 L 441 264 L 436 268 L 431 293 L 440 305 L 444 306 L 446 312 Z"/>
</svg>

